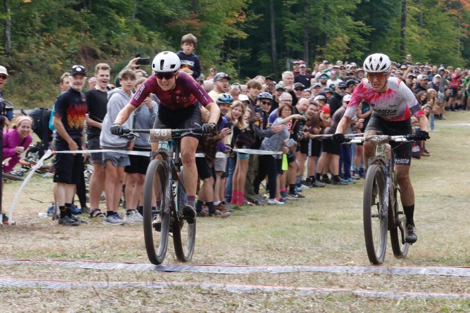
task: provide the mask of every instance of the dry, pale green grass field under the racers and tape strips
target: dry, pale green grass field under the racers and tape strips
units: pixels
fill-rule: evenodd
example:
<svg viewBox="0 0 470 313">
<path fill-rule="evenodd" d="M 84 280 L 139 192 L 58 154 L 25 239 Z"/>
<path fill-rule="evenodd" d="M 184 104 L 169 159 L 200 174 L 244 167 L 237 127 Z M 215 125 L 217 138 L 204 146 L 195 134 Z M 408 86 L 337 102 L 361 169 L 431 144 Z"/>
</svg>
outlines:
<svg viewBox="0 0 470 313">
<path fill-rule="evenodd" d="M 470 112 L 447 114 L 426 143 L 430 157 L 412 160 L 418 242 L 395 259 L 389 244 L 383 266 L 470 266 Z M 446 124 L 446 125 L 444 125 Z M 8 210 L 19 187 L 4 186 Z M 283 207 L 243 207 L 228 219 L 198 220 L 194 264 L 258 266 L 369 266 L 362 231 L 363 180 L 306 190 Z M 38 201 L 47 203 L 39 203 Z M 0 259 L 100 260 L 148 263 L 141 225 L 105 226 L 87 220 L 61 227 L 40 218 L 52 199 L 51 179 L 35 176 L 19 201 L 14 226 L 0 227 Z M 104 206 L 103 206 L 104 208 Z M 165 264 L 177 263 L 170 239 Z M 468 277 L 389 274 L 203 274 L 2 265 L 3 278 L 101 282 L 195 282 L 376 291 L 470 293 Z M 345 293 L 229 292 L 174 286 L 0 289 L 1 312 L 470 312 L 470 299 L 371 298 Z"/>
</svg>

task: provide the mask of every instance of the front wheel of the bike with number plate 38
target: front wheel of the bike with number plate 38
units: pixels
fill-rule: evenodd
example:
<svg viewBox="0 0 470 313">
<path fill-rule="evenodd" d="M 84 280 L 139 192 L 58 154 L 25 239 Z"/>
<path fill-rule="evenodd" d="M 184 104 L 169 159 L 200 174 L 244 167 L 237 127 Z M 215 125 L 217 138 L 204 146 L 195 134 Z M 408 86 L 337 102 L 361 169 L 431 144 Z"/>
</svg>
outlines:
<svg viewBox="0 0 470 313">
<path fill-rule="evenodd" d="M 170 224 L 169 198 L 165 197 L 168 166 L 152 160 L 147 167 L 143 185 L 143 235 L 147 256 L 152 264 L 161 264 L 168 246 Z M 171 186 L 168 186 L 171 188 Z M 160 208 L 152 212 L 154 199 L 161 199 Z M 152 216 L 153 215 L 153 216 Z"/>
</svg>

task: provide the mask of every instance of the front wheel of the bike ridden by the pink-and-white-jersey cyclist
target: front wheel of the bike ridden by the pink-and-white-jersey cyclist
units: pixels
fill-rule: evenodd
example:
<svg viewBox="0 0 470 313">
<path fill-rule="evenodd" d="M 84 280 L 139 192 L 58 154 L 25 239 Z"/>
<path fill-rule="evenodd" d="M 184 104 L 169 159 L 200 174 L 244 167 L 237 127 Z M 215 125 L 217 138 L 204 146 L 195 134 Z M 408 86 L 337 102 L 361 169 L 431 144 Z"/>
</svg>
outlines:
<svg viewBox="0 0 470 313">
<path fill-rule="evenodd" d="M 382 168 L 369 166 L 364 183 L 363 219 L 367 255 L 372 264 L 382 264 L 387 249 L 387 210 L 383 199 L 385 177 Z"/>
</svg>

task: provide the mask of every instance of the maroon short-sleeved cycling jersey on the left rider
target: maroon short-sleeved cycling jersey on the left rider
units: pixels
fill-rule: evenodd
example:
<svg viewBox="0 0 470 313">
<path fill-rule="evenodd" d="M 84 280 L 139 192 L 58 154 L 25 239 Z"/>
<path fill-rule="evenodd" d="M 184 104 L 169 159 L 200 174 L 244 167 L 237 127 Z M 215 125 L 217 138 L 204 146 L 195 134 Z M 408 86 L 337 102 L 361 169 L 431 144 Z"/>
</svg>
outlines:
<svg viewBox="0 0 470 313">
<path fill-rule="evenodd" d="M 154 93 L 158 97 L 161 105 L 172 110 L 187 108 L 197 101 L 203 106 L 213 102 L 206 90 L 185 72 L 179 73 L 176 79 L 176 87 L 168 91 L 160 88 L 156 75 L 150 76 L 143 82 L 141 88 L 136 91 L 131 99 L 131 104 L 136 108 L 139 107 L 150 93 Z"/>
</svg>

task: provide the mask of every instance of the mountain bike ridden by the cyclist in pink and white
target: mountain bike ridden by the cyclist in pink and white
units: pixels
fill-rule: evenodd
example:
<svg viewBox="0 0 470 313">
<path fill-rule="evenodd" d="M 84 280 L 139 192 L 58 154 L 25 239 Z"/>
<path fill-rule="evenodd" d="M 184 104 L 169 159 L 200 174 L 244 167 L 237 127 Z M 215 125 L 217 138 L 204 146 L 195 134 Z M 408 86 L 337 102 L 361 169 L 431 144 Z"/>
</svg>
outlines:
<svg viewBox="0 0 470 313">
<path fill-rule="evenodd" d="M 371 141 L 376 144 L 376 156 L 368 159 L 369 165 L 364 182 L 363 223 L 364 239 L 369 261 L 382 264 L 387 248 L 387 230 L 393 254 L 404 258 L 409 244 L 405 242 L 406 220 L 400 201 L 400 186 L 395 175 L 393 149 L 386 144 L 407 142 L 415 139 L 413 135 L 371 135 L 347 139 L 351 143 Z"/>
</svg>

